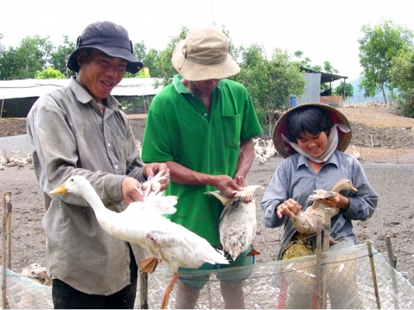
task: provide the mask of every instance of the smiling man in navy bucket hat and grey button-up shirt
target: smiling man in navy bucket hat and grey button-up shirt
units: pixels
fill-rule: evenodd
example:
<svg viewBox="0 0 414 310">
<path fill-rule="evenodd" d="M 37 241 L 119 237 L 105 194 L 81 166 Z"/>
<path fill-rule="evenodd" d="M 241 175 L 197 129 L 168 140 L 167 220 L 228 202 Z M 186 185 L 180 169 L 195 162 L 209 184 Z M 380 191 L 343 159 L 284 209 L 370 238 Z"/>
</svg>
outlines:
<svg viewBox="0 0 414 310">
<path fill-rule="evenodd" d="M 48 273 L 55 309 L 132 309 L 142 249 L 112 238 L 85 200 L 49 196 L 68 177 L 88 178 L 108 209 L 123 211 L 142 200 L 135 187 L 164 163 L 144 165 L 128 116 L 110 95 L 126 71 L 142 63 L 125 28 L 92 23 L 77 41 L 68 86 L 41 96 L 27 118 L 34 172 L 43 191 Z M 168 185 L 168 180 L 162 189 Z"/>
</svg>

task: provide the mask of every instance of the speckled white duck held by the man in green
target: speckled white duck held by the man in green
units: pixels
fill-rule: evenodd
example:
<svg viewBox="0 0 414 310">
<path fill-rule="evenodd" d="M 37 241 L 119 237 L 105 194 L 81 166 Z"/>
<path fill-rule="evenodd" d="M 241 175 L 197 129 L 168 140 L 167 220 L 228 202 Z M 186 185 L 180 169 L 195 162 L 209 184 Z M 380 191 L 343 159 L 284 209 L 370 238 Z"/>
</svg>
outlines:
<svg viewBox="0 0 414 310">
<path fill-rule="evenodd" d="M 224 205 L 219 222 L 220 242 L 224 251 L 230 254 L 235 260 L 239 254 L 243 253 L 252 246 L 247 256 L 260 254 L 253 247 L 255 240 L 257 221 L 256 221 L 256 200 L 245 203 L 246 200 L 253 198 L 255 190 L 262 188 L 259 185 L 244 187 L 242 192 L 235 192 L 234 198 L 227 198 L 221 192 L 206 192 L 218 198 Z"/>
</svg>

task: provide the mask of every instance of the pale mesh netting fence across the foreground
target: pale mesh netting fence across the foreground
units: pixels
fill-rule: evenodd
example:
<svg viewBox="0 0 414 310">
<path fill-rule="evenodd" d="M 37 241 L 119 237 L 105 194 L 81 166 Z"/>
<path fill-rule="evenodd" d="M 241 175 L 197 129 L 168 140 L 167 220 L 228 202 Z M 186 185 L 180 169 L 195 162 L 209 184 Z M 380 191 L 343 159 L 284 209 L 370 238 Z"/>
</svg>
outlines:
<svg viewBox="0 0 414 310">
<path fill-rule="evenodd" d="M 266 251 L 267 247 L 259 248 Z M 270 249 L 273 251 L 273 249 Z M 357 245 L 322 255 L 320 276 L 317 276 L 317 257 L 307 256 L 290 260 L 259 262 L 251 267 L 234 267 L 225 271 L 206 273 L 210 276 L 201 289 L 195 309 L 223 309 L 219 273 L 250 273 L 243 281 L 246 309 L 312 309 L 319 300 L 326 300 L 326 309 L 414 309 L 414 287 L 402 274 L 393 269 L 384 256 L 373 249 L 373 269 L 367 245 Z M 186 273 L 191 279 L 198 272 Z M 140 275 L 141 276 L 141 275 Z M 142 276 L 141 276 L 142 277 Z M 135 308 L 148 305 L 157 309 L 172 274 L 160 265 L 148 275 L 148 288 L 139 285 Z M 325 287 L 321 296 L 318 287 Z M 145 293 L 142 295 L 141 291 Z M 141 296 L 148 296 L 143 300 Z M 377 298 L 380 304 L 377 304 Z M 240 296 L 238 296 L 240 297 Z M 7 271 L 7 307 L 9 309 L 52 309 L 51 287 L 34 282 L 26 276 Z M 176 290 L 168 307 L 173 309 Z"/>
</svg>

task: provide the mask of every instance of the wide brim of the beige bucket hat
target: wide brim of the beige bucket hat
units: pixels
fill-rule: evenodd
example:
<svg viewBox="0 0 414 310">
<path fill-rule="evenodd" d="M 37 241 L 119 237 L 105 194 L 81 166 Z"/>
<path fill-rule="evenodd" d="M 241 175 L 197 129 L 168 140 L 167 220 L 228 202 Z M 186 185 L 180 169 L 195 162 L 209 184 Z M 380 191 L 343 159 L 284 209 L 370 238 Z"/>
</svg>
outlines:
<svg viewBox="0 0 414 310">
<path fill-rule="evenodd" d="M 204 65 L 189 61 L 183 54 L 186 40 L 181 40 L 175 45 L 172 52 L 172 65 L 184 79 L 188 81 L 206 81 L 210 79 L 226 79 L 240 72 L 240 67 L 230 54 L 226 59 L 217 64 Z"/>
</svg>

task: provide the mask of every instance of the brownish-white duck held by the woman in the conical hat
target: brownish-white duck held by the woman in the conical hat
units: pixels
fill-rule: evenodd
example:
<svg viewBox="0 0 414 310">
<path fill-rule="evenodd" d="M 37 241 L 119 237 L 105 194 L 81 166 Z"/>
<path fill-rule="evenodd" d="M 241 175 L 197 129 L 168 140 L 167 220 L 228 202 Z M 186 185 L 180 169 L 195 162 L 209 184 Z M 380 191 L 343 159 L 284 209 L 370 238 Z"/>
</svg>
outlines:
<svg viewBox="0 0 414 310">
<path fill-rule="evenodd" d="M 332 187 L 330 192 L 326 191 L 325 189 L 316 189 L 315 191 L 313 191 L 314 194 L 308 196 L 308 199 L 313 201 L 312 205 L 307 207 L 305 211 L 299 211 L 298 214 L 291 218 L 295 229 L 300 234 L 305 235 L 302 237 L 315 234 L 316 220 L 318 218 L 322 221 L 322 223 L 324 222 L 324 209 L 328 208 L 329 206 L 319 202 L 318 200 L 333 197 L 335 196 L 335 192 L 340 192 L 344 189 L 351 189 L 354 192 L 358 192 L 358 190 L 353 186 L 351 180 L 343 178 Z M 331 207 L 331 218 L 337 215 L 339 210 L 339 207 Z"/>
</svg>

